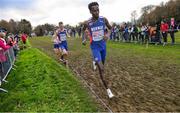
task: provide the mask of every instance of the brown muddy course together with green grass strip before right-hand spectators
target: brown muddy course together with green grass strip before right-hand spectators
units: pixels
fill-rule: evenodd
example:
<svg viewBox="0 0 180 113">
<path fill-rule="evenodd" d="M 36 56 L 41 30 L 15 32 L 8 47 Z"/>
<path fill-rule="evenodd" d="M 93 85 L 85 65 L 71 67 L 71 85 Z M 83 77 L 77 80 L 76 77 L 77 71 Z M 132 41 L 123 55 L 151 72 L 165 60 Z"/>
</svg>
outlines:
<svg viewBox="0 0 180 113">
<path fill-rule="evenodd" d="M 168 38 L 170 39 L 170 38 Z M 49 37 L 30 39 L 33 47 L 58 59 Z M 169 40 L 170 41 L 170 40 Z M 180 33 L 177 45 L 108 42 L 105 78 L 116 95 L 108 99 L 98 72 L 92 71 L 89 45 L 68 39 L 69 66 L 78 72 L 113 111 L 180 111 Z"/>
</svg>

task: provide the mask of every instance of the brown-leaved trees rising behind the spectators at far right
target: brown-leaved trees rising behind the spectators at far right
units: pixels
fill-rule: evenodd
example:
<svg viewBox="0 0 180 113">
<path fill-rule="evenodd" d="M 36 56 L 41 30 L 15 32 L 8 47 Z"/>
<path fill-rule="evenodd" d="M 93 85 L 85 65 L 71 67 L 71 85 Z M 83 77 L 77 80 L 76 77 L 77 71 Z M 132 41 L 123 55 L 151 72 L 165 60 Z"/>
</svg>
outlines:
<svg viewBox="0 0 180 113">
<path fill-rule="evenodd" d="M 141 13 L 138 21 L 144 23 L 155 24 L 162 20 L 170 21 L 170 18 L 180 22 L 180 0 L 161 2 L 158 6 L 148 5 L 141 9 Z"/>
</svg>

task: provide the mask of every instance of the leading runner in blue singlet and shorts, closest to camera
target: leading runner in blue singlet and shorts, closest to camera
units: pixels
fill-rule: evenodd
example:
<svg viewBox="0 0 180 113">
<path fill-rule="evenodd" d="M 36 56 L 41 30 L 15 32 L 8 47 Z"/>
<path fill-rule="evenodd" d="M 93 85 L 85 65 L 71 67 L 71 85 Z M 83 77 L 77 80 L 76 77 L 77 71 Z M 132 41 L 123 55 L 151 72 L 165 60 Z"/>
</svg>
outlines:
<svg viewBox="0 0 180 113">
<path fill-rule="evenodd" d="M 92 2 L 88 5 L 92 18 L 84 22 L 89 30 L 90 34 L 90 47 L 93 55 L 95 64 L 99 68 L 101 80 L 107 89 L 109 98 L 112 98 L 114 95 L 111 90 L 108 88 L 106 81 L 104 80 L 104 64 L 106 58 L 106 40 L 108 39 L 109 33 L 106 33 L 106 27 L 111 30 L 111 25 L 105 17 L 99 16 L 99 4 L 97 2 Z M 86 40 L 83 41 L 83 44 L 86 43 Z"/>
</svg>

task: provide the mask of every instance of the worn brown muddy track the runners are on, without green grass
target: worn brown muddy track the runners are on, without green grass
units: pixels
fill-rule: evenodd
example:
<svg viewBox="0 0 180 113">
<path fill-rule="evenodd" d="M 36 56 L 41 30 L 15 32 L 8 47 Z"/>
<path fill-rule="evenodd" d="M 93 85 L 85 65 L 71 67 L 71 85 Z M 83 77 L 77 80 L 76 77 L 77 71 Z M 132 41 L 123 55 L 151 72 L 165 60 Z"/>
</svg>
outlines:
<svg viewBox="0 0 180 113">
<path fill-rule="evenodd" d="M 57 60 L 50 42 L 31 40 L 31 43 Z M 112 111 L 180 111 L 179 65 L 108 51 L 105 79 L 115 94 L 115 98 L 109 99 L 98 71 L 92 70 L 90 49 L 76 40 L 69 40 L 69 43 L 70 69 L 82 76 Z"/>
</svg>

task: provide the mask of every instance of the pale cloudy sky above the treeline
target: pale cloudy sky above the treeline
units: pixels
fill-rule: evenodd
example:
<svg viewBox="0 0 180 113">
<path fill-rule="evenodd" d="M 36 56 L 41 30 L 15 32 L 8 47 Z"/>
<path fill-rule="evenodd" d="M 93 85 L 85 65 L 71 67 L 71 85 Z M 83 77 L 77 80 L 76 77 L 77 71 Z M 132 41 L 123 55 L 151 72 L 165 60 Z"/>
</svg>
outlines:
<svg viewBox="0 0 180 113">
<path fill-rule="evenodd" d="M 33 26 L 59 21 L 76 25 L 91 17 L 88 3 L 94 0 L 0 0 L 0 20 L 27 19 Z M 110 22 L 131 20 L 131 12 L 146 5 L 159 5 L 169 0 L 96 0 L 100 5 L 100 15 Z"/>
</svg>

